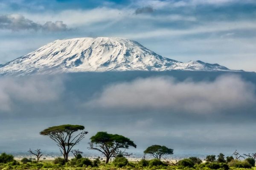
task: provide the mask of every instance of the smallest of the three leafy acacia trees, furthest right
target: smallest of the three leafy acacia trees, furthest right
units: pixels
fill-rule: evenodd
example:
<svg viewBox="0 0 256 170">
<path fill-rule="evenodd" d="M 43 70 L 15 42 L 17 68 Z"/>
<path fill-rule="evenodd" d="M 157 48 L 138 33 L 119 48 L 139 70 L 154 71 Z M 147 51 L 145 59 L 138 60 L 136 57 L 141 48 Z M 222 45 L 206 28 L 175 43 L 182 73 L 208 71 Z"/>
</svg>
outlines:
<svg viewBox="0 0 256 170">
<path fill-rule="evenodd" d="M 164 155 L 172 155 L 173 149 L 170 149 L 166 146 L 154 144 L 154 145 L 148 147 L 146 150 L 144 150 L 144 153 L 150 154 L 156 159 L 161 159 L 161 157 Z"/>
</svg>

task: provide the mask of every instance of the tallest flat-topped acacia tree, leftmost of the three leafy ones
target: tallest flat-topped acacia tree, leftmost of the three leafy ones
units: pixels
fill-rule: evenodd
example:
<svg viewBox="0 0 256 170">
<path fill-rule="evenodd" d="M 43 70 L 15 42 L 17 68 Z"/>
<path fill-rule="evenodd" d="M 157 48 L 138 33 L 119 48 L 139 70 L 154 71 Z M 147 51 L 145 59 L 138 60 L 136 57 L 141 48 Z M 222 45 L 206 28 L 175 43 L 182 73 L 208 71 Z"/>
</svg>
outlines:
<svg viewBox="0 0 256 170">
<path fill-rule="evenodd" d="M 83 131 L 78 134 L 74 134 L 78 130 Z M 87 131 L 84 131 L 84 126 L 81 125 L 53 126 L 40 132 L 41 135 L 49 136 L 57 143 L 61 154 L 64 156 L 65 162 L 68 161 L 68 154 L 72 150 L 73 146 L 84 139 L 87 133 Z"/>
</svg>

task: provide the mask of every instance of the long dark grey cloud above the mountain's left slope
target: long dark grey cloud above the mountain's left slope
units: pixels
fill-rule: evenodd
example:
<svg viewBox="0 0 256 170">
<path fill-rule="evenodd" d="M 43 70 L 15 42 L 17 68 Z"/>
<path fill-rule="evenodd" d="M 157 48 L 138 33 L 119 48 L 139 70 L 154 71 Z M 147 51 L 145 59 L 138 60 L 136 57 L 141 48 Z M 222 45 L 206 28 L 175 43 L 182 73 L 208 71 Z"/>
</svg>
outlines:
<svg viewBox="0 0 256 170">
<path fill-rule="evenodd" d="M 62 21 L 47 22 L 44 25 L 35 23 L 20 14 L 0 15 L 0 29 L 20 30 L 43 30 L 43 31 L 66 31 L 67 25 Z"/>
</svg>

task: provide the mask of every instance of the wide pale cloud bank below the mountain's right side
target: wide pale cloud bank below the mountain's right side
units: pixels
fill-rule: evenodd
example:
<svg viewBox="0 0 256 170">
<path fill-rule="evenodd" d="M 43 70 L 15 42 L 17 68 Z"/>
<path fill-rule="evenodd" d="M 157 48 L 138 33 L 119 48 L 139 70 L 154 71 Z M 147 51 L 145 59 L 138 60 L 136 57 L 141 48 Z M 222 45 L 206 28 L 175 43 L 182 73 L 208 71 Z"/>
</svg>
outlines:
<svg viewBox="0 0 256 170">
<path fill-rule="evenodd" d="M 176 82 L 172 77 L 137 79 L 108 86 L 87 106 L 129 109 L 171 109 L 213 113 L 256 104 L 255 86 L 237 76 L 214 82 Z"/>
</svg>

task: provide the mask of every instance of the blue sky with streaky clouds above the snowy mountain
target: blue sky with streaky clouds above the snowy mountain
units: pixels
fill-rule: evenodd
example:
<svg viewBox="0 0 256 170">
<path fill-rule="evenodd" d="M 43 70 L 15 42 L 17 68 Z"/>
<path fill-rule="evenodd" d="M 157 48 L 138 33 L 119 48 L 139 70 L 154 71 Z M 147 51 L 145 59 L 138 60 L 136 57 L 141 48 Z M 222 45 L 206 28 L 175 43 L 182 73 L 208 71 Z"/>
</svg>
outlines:
<svg viewBox="0 0 256 170">
<path fill-rule="evenodd" d="M 254 0 L 0 0 L 0 63 L 56 39 L 104 36 L 256 71 L 255 9 Z"/>
</svg>

